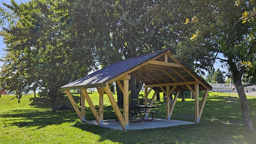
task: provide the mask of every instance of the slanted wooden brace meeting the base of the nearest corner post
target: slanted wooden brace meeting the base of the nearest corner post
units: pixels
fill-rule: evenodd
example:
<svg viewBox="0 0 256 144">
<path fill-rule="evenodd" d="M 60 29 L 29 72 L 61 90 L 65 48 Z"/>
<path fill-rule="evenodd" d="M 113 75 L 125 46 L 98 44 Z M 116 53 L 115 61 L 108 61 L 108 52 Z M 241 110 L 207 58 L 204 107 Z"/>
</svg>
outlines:
<svg viewBox="0 0 256 144">
<path fill-rule="evenodd" d="M 126 130 L 124 118 L 122 116 L 122 113 L 120 112 L 120 109 L 118 108 L 116 100 L 115 100 L 115 98 L 114 98 L 114 96 L 113 96 L 113 94 L 112 94 L 112 92 L 111 92 L 111 90 L 110 90 L 110 88 L 108 86 L 108 83 L 106 83 L 106 86 L 104 87 L 104 90 L 105 90 L 105 92 L 108 95 L 108 99 L 109 99 L 109 101 L 110 101 L 110 103 L 111 103 L 111 105 L 112 105 L 112 107 L 113 107 L 113 109 L 114 109 L 114 111 L 116 113 L 116 116 L 117 116 L 117 118 L 118 118 L 118 120 L 119 120 L 119 122 L 120 122 L 120 124 L 121 124 L 121 126 L 123 128 L 123 130 Z"/>
</svg>

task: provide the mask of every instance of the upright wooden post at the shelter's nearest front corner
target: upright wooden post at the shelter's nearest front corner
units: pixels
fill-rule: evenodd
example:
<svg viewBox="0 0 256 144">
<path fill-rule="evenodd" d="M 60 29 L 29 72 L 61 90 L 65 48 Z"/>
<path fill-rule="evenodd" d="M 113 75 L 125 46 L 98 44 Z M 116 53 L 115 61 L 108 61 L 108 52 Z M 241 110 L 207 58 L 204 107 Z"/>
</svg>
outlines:
<svg viewBox="0 0 256 144">
<path fill-rule="evenodd" d="M 129 129 L 129 80 L 124 80 L 124 122 L 125 130 Z"/>
</svg>

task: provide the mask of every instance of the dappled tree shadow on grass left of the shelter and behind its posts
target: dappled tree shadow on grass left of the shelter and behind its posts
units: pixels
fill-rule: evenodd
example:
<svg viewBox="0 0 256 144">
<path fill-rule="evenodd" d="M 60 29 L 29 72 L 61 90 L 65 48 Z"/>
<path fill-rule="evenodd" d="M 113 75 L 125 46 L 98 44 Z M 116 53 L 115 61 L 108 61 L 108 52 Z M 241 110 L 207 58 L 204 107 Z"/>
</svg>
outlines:
<svg viewBox="0 0 256 144">
<path fill-rule="evenodd" d="M 98 109 L 98 106 L 96 106 Z M 105 119 L 114 118 L 111 106 L 104 107 Z M 90 108 L 85 108 L 86 121 L 95 120 Z M 62 124 L 64 122 L 76 122 L 78 116 L 74 110 L 63 110 L 52 112 L 46 108 L 32 108 L 25 110 L 10 110 L 0 114 L 4 118 L 5 126 L 31 127 L 36 126 L 37 129 L 48 125 Z"/>
</svg>

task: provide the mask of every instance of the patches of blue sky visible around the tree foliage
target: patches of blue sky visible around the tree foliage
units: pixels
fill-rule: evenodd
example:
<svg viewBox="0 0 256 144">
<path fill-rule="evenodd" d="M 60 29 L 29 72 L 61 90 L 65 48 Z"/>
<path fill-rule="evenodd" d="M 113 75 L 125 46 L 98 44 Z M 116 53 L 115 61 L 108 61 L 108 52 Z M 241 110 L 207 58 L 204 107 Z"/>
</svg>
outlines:
<svg viewBox="0 0 256 144">
<path fill-rule="evenodd" d="M 28 0 L 15 0 L 15 2 L 20 3 L 20 2 L 26 2 Z M 7 4 L 10 4 L 11 0 L 2 0 L 0 3 L 0 6 L 2 7 L 2 2 L 6 2 Z M 2 57 L 4 52 L 3 52 L 3 48 L 6 48 L 6 45 L 3 43 L 3 38 L 0 37 L 0 56 Z M 221 68 L 221 63 L 219 61 L 216 61 L 214 64 L 214 68 L 217 70 L 217 68 L 220 68 L 221 71 L 226 72 L 226 68 Z M 0 66 L 2 66 L 2 62 L 0 62 Z"/>
</svg>

